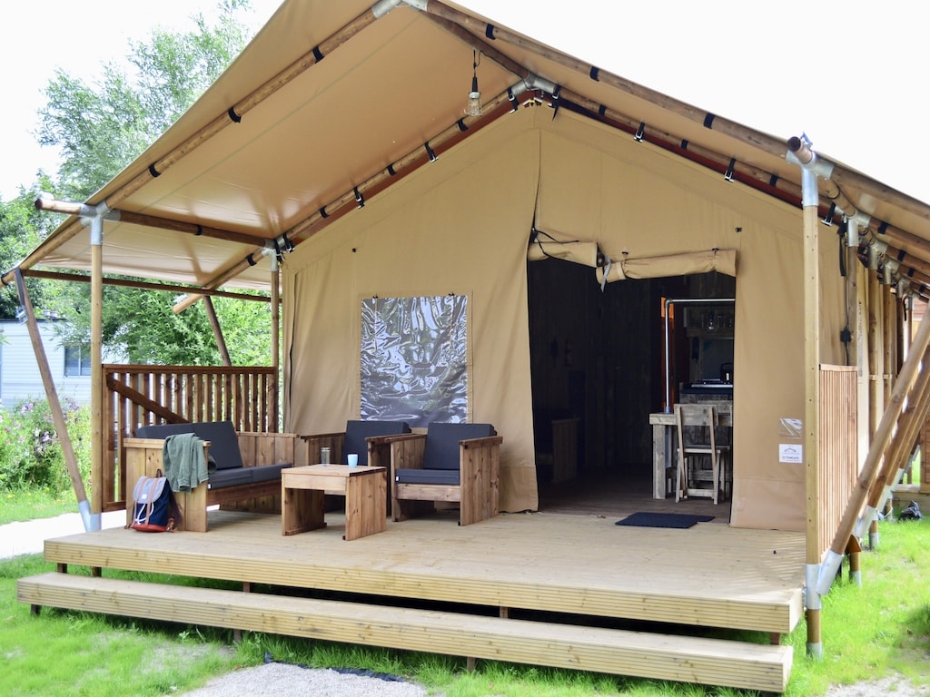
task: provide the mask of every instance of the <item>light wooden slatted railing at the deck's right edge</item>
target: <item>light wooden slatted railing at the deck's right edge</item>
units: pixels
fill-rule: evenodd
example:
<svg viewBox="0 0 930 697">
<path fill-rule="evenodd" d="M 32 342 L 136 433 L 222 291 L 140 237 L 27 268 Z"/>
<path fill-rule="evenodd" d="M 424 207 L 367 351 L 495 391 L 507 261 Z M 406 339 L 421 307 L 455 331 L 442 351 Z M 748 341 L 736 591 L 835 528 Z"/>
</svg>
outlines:
<svg viewBox="0 0 930 697">
<path fill-rule="evenodd" d="M 836 535 L 858 477 L 856 378 L 853 366 L 820 366 L 817 545 L 821 553 Z"/>
</svg>

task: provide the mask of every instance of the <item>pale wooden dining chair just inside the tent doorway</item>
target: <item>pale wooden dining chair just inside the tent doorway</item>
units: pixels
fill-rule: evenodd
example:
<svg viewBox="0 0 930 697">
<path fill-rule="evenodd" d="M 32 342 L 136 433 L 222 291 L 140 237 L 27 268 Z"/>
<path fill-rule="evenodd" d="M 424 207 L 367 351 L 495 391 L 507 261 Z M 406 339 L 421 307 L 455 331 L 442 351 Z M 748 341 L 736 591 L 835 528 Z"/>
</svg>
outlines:
<svg viewBox="0 0 930 697">
<path fill-rule="evenodd" d="M 718 503 L 727 481 L 730 446 L 717 442 L 717 407 L 709 403 L 675 404 L 678 432 L 678 467 L 675 473 L 675 501 L 688 496 L 707 496 Z M 710 461 L 710 471 L 703 465 Z M 694 486 L 711 481 L 710 488 Z"/>
</svg>

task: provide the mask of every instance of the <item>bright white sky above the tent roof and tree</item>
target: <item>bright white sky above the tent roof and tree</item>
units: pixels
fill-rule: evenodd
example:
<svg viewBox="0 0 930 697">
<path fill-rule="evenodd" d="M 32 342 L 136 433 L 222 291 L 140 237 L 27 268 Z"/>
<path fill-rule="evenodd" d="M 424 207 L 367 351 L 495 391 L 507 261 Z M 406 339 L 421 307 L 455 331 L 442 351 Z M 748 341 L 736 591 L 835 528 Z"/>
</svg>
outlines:
<svg viewBox="0 0 930 697">
<path fill-rule="evenodd" d="M 374 0 L 372 0 L 374 2 Z M 930 39 L 913 0 L 458 0 L 500 24 L 675 99 L 815 150 L 930 203 Z M 280 0 L 252 0 L 259 23 Z M 35 145 L 41 90 L 56 67 L 85 78 L 155 25 L 186 29 L 217 0 L 7 3 L 0 10 L 0 196 L 16 196 L 55 153 Z M 11 6 L 13 8 L 11 8 Z M 14 98 L 14 99 L 10 99 Z"/>
</svg>

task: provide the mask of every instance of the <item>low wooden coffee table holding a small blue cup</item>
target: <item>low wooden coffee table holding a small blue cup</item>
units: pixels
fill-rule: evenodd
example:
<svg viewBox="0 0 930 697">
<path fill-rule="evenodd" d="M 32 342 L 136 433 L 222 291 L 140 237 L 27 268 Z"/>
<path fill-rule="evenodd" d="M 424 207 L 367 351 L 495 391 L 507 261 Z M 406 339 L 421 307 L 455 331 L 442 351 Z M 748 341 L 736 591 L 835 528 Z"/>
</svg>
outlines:
<svg viewBox="0 0 930 697">
<path fill-rule="evenodd" d="M 325 528 L 325 492 L 345 493 L 343 540 L 383 533 L 388 527 L 387 491 L 387 467 L 287 467 L 281 470 L 281 533 L 294 535 Z"/>
</svg>

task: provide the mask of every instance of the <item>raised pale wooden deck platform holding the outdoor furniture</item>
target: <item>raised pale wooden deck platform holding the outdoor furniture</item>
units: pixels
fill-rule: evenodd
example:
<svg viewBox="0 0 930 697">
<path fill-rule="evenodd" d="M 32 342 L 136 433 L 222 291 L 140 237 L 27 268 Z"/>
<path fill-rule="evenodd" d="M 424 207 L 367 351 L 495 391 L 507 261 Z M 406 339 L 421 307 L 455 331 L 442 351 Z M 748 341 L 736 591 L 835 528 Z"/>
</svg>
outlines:
<svg viewBox="0 0 930 697">
<path fill-rule="evenodd" d="M 629 533 L 613 520 L 535 514 L 466 528 L 408 520 L 346 543 L 339 516 L 327 514 L 325 531 L 282 537 L 276 517 L 237 515 L 211 519 L 206 535 L 60 538 L 46 542 L 46 559 L 765 632 L 790 632 L 802 614 L 803 579 L 792 576 L 803 572 L 803 536 L 720 524 Z"/>
</svg>

